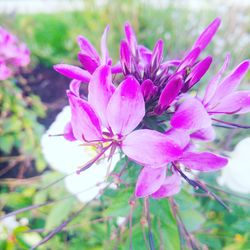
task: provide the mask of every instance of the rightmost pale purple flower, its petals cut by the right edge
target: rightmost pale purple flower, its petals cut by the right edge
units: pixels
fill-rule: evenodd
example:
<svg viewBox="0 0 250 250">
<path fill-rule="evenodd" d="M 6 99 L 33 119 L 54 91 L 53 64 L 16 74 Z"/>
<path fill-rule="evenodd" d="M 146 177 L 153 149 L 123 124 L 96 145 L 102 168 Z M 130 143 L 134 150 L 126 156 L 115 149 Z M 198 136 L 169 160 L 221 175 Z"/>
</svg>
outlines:
<svg viewBox="0 0 250 250">
<path fill-rule="evenodd" d="M 193 132 L 192 138 L 213 140 L 212 117 L 216 114 L 243 114 L 250 112 L 250 92 L 235 91 L 250 68 L 250 61 L 238 65 L 220 83 L 220 78 L 228 65 L 229 57 L 220 71 L 208 84 L 203 100 L 186 98 L 180 103 L 170 123 L 177 129 Z"/>
</svg>

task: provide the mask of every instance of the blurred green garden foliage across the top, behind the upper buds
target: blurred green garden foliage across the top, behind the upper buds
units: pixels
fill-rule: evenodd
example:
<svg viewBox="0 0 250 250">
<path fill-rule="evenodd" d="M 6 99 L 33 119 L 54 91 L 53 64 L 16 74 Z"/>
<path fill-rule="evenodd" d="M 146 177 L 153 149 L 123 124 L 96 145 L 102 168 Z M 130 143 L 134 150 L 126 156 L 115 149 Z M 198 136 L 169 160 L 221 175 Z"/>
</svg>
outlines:
<svg viewBox="0 0 250 250">
<path fill-rule="evenodd" d="M 157 39 L 165 40 L 167 57 L 182 56 L 198 35 L 197 29 L 193 29 L 194 24 L 190 24 L 187 9 L 179 6 L 176 12 L 176 6 L 171 2 L 168 8 L 162 9 L 131 0 L 111 0 L 102 7 L 95 1 L 85 1 L 85 4 L 86 8 L 75 12 L 17 15 L 15 22 L 8 26 L 20 33 L 35 61 L 47 66 L 58 62 L 77 63 L 76 38 L 79 34 L 87 37 L 99 50 L 101 34 L 107 24 L 110 25 L 109 51 L 116 60 L 125 21 L 133 25 L 138 41 L 151 49 Z M 211 10 L 206 16 L 195 14 L 204 26 L 214 16 Z"/>
</svg>

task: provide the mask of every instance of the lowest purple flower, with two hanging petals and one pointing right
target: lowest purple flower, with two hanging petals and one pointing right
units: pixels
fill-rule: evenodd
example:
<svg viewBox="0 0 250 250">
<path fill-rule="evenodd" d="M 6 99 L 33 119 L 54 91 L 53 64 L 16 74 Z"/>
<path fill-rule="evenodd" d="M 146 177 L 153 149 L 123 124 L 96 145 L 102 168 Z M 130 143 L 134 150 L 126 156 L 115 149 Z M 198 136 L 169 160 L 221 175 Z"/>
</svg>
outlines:
<svg viewBox="0 0 250 250">
<path fill-rule="evenodd" d="M 185 131 L 171 129 L 166 134 L 179 143 L 183 152 L 181 155 L 176 155 L 176 159 L 169 167 L 167 165 L 145 166 L 137 180 L 135 189 L 137 197 L 151 195 L 159 199 L 177 194 L 181 189 L 181 176 L 176 167 L 185 166 L 191 170 L 210 172 L 219 170 L 228 163 L 226 158 L 211 152 L 191 151 L 189 136 Z"/>
</svg>

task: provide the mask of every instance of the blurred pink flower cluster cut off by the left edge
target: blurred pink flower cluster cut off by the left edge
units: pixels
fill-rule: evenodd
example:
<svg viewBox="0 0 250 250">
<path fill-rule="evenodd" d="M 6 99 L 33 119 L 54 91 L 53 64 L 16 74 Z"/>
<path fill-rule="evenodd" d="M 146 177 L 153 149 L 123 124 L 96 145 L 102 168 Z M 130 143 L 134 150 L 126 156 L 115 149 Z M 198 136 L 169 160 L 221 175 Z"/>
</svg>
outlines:
<svg viewBox="0 0 250 250">
<path fill-rule="evenodd" d="M 17 68 L 29 62 L 30 52 L 26 45 L 0 27 L 0 80 L 9 78 Z"/>
</svg>

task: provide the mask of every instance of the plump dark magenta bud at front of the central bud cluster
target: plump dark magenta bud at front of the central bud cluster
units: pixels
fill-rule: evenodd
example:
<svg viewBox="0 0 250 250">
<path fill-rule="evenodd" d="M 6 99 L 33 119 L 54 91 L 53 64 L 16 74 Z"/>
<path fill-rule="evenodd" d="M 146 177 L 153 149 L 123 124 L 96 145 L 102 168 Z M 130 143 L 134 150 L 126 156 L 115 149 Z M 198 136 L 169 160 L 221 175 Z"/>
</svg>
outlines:
<svg viewBox="0 0 250 250">
<path fill-rule="evenodd" d="M 167 83 L 167 85 L 162 90 L 158 101 L 160 111 L 164 111 L 171 105 L 182 87 L 183 79 L 181 75 L 177 75 Z"/>
</svg>

